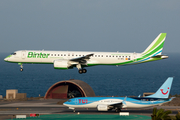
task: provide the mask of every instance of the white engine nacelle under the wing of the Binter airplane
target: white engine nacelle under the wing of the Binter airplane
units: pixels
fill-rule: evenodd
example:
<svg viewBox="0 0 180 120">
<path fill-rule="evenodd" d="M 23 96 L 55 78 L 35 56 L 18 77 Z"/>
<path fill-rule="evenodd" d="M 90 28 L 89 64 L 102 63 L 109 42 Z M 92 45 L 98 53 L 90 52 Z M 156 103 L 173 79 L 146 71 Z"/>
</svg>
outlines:
<svg viewBox="0 0 180 120">
<path fill-rule="evenodd" d="M 67 60 L 55 60 L 54 69 L 68 69 L 69 64 Z"/>
</svg>

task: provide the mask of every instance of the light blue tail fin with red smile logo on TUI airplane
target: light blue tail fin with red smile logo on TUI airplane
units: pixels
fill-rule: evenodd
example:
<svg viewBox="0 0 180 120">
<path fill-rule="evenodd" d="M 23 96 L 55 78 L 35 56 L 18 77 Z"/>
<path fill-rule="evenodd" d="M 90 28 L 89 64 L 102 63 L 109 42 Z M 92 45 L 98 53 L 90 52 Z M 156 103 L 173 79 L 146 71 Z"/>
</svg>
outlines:
<svg viewBox="0 0 180 120">
<path fill-rule="evenodd" d="M 171 90 L 171 85 L 173 82 L 173 77 L 169 77 L 164 84 L 157 90 L 157 92 L 153 95 L 149 95 L 146 97 L 152 98 L 168 98 Z"/>
</svg>

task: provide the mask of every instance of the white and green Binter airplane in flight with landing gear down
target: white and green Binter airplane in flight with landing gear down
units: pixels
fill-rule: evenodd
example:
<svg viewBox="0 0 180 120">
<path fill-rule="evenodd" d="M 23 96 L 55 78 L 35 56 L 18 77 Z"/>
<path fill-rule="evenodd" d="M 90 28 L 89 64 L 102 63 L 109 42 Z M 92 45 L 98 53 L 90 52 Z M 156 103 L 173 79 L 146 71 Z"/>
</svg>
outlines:
<svg viewBox="0 0 180 120">
<path fill-rule="evenodd" d="M 55 69 L 71 69 L 77 67 L 79 73 L 86 73 L 84 67 L 95 65 L 132 65 L 168 58 L 161 55 L 166 33 L 157 38 L 142 53 L 124 52 L 77 52 L 77 51 L 45 51 L 19 50 L 7 56 L 4 61 L 18 63 L 23 71 L 23 64 L 54 64 Z"/>
</svg>

